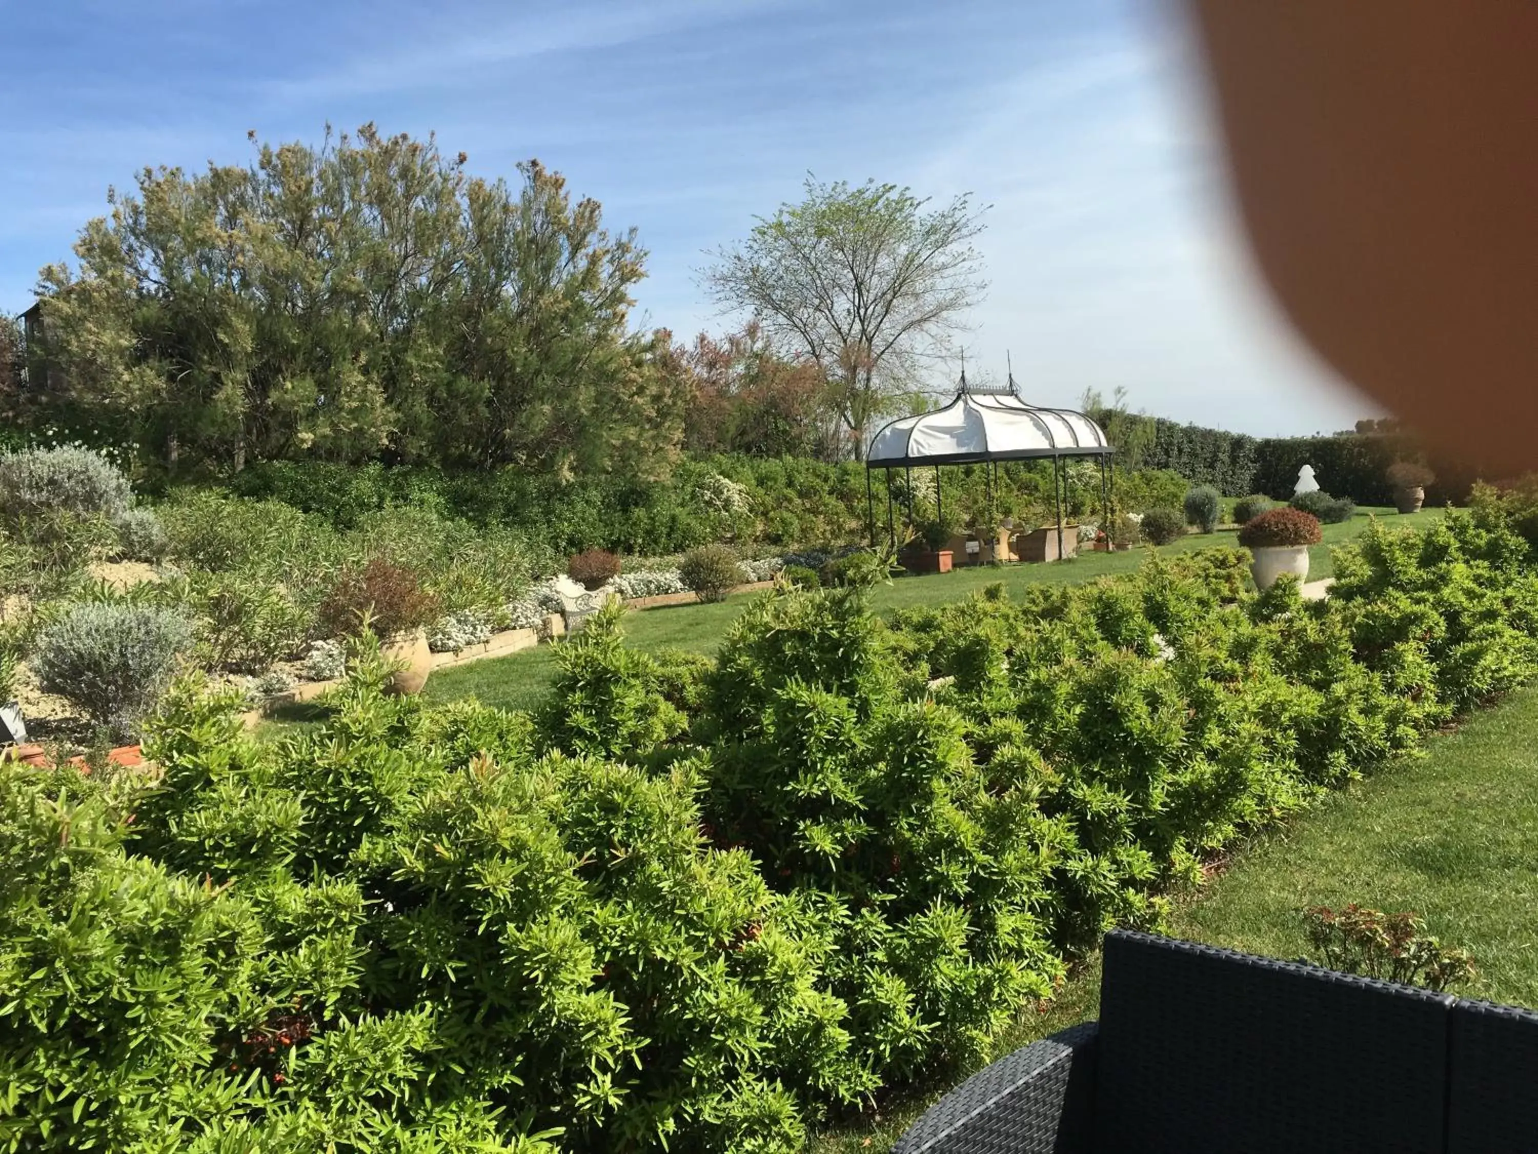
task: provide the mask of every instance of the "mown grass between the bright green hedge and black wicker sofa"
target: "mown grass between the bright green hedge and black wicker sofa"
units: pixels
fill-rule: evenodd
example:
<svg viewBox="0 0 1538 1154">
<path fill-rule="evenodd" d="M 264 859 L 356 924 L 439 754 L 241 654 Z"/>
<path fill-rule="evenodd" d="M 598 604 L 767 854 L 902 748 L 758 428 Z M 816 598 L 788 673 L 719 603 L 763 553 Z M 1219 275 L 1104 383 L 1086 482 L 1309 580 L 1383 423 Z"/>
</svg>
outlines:
<svg viewBox="0 0 1538 1154">
<path fill-rule="evenodd" d="M 1538 689 L 1524 689 L 1257 839 L 1201 891 L 1183 894 L 1178 937 L 1272 957 L 1307 954 L 1300 912 L 1360 902 L 1413 909 L 1480 969 L 1455 992 L 1538 1008 Z M 1090 959 L 1046 1014 L 1027 1011 L 995 1056 L 1097 1016 Z M 954 1085 L 960 1077 L 952 1077 Z M 867 1125 L 824 1134 L 817 1154 L 884 1151 L 943 1088 Z"/>
</svg>

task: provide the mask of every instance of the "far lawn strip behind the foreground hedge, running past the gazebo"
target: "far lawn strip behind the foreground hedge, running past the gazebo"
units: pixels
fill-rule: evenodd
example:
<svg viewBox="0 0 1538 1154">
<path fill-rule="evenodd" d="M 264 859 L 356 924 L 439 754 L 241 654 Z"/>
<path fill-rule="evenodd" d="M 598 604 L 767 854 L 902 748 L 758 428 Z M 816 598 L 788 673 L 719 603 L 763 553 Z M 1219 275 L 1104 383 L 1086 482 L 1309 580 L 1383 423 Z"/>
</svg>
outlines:
<svg viewBox="0 0 1538 1154">
<path fill-rule="evenodd" d="M 1393 509 L 1358 509 L 1357 517 L 1341 525 L 1324 526 L 1324 543 L 1309 552 L 1309 580 L 1329 577 L 1330 546 L 1350 540 L 1367 528 L 1370 514 L 1387 514 L 1392 525 L 1421 526 L 1441 517 L 1440 509 L 1401 517 Z M 1164 552 L 1192 552 L 1213 546 L 1237 546 L 1237 529 L 1220 529 L 1212 535 L 1190 534 Z M 1010 591 L 1044 582 L 1087 582 L 1107 574 L 1130 572 L 1143 563 L 1144 549 L 1130 552 L 1086 552 L 1070 562 L 1052 565 L 1007 565 L 964 568 L 947 574 L 927 577 L 901 577 L 875 591 L 877 609 L 901 609 L 912 605 L 934 605 L 966 597 L 986 585 L 1003 582 Z M 754 594 L 732 597 L 721 605 L 674 605 L 660 609 L 634 612 L 626 620 L 629 643 L 637 649 L 692 649 L 715 652 L 726 628 L 747 606 Z M 486 705 L 509 709 L 528 709 L 538 705 L 555 672 L 554 649 L 541 645 L 511 657 L 474 662 L 435 672 L 428 682 L 429 700 L 448 702 L 458 697 L 478 697 Z"/>
</svg>

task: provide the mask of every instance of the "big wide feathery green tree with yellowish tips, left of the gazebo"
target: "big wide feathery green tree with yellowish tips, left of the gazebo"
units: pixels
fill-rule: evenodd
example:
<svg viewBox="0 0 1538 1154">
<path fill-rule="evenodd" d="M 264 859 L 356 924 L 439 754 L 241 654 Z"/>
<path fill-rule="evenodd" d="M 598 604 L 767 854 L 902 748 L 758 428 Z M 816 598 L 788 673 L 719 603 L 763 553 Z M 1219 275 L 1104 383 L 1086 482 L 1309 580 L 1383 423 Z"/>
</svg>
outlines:
<svg viewBox="0 0 1538 1154">
<path fill-rule="evenodd" d="M 558 472 L 664 465 L 683 382 L 629 328 L 634 232 L 538 162 L 468 175 L 366 125 L 249 166 L 145 169 L 40 278 L 65 406 L 175 468 L 389 457 Z"/>
</svg>

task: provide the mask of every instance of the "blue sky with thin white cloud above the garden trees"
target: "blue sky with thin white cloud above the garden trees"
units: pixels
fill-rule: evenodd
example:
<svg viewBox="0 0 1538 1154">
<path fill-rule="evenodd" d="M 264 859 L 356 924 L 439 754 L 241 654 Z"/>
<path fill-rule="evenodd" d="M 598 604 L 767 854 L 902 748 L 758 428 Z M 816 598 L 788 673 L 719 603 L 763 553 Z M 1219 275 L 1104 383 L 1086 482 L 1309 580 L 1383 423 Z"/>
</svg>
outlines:
<svg viewBox="0 0 1538 1154">
<path fill-rule="evenodd" d="M 145 165 L 326 122 L 437 131 L 484 175 L 538 157 L 651 251 L 644 319 L 729 323 L 706 251 L 806 172 L 992 205 L 969 366 L 1027 399 L 1123 386 L 1257 434 L 1373 408 L 1275 319 L 1223 198 L 1178 26 L 1147 0 L 0 0 L 0 308 Z M 940 369 L 937 372 L 944 372 Z"/>
</svg>

